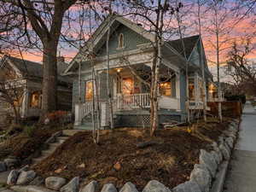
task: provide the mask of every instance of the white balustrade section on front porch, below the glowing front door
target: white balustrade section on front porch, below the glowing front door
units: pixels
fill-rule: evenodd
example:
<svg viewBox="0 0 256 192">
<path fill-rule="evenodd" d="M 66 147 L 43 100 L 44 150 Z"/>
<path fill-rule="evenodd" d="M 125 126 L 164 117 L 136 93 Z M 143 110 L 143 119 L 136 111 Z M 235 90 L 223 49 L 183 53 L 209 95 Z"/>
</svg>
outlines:
<svg viewBox="0 0 256 192">
<path fill-rule="evenodd" d="M 132 95 L 119 95 L 114 103 L 114 109 L 129 110 L 133 108 L 150 108 L 150 95 L 149 93 L 138 93 Z"/>
</svg>

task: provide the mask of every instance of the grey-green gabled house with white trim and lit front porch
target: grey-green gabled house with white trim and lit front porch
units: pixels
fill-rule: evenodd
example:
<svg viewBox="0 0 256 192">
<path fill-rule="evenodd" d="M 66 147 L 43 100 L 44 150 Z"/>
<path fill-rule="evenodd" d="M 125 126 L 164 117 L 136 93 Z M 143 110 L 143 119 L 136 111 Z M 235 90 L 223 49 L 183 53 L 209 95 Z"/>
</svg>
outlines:
<svg viewBox="0 0 256 192">
<path fill-rule="evenodd" d="M 110 20 L 110 22 L 108 22 Z M 106 110 L 107 93 L 107 50 L 109 38 L 109 84 L 113 96 L 113 118 L 115 126 L 148 126 L 150 108 L 151 67 L 154 61 L 154 34 L 141 25 L 119 15 L 112 15 L 102 22 L 85 46 L 73 58 L 64 75 L 73 79 L 73 111 L 75 127 L 91 127 L 93 91 L 98 87 L 102 110 Z M 200 36 L 183 38 L 185 55 L 189 60 L 189 108 L 203 108 L 204 70 L 207 84 L 212 82 L 212 74 Z M 162 45 L 160 66 L 159 123 L 171 120 L 184 121 L 186 110 L 186 59 L 182 41 L 166 41 Z M 96 79 L 92 76 L 92 67 Z M 208 93 L 208 90 L 207 90 Z M 102 105 L 103 103 L 103 105 Z M 104 104 L 105 103 L 105 104 Z M 101 112 L 102 113 L 102 112 Z M 106 118 L 102 113 L 102 119 Z M 108 115 L 107 115 L 108 116 Z M 108 119 L 108 118 L 107 118 Z"/>
</svg>

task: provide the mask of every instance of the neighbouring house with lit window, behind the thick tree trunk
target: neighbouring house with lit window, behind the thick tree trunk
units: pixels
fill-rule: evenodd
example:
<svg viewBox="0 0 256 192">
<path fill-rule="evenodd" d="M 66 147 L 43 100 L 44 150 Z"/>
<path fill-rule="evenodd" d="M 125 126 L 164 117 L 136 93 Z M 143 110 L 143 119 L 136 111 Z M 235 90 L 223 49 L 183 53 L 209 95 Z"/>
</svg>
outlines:
<svg viewBox="0 0 256 192">
<path fill-rule="evenodd" d="M 58 58 L 58 109 L 71 110 L 72 83 L 61 73 L 67 68 L 64 57 Z M 8 84 L 15 84 L 20 90 L 20 97 L 15 105 L 20 109 L 21 118 L 38 117 L 42 105 L 43 65 L 5 55 L 0 63 L 0 74 Z M 0 100 L 2 111 L 9 110 L 9 105 Z M 11 111 L 11 109 L 9 110 Z"/>
</svg>

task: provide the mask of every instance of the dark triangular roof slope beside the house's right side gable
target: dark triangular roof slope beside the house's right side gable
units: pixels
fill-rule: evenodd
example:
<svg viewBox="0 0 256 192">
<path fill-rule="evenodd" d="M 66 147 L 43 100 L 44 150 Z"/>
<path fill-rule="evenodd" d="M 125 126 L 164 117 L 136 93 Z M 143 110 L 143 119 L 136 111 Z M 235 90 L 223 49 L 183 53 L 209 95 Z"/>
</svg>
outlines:
<svg viewBox="0 0 256 192">
<path fill-rule="evenodd" d="M 188 38 L 183 38 L 183 43 L 185 46 L 185 53 L 186 53 L 187 59 L 189 59 L 189 56 L 192 54 L 192 51 L 195 48 L 195 44 L 197 44 L 199 39 L 200 39 L 199 35 L 191 36 Z M 167 44 L 170 44 L 174 49 L 177 50 L 177 52 L 180 55 L 184 56 L 183 43 L 180 38 L 177 40 L 167 41 Z"/>
</svg>

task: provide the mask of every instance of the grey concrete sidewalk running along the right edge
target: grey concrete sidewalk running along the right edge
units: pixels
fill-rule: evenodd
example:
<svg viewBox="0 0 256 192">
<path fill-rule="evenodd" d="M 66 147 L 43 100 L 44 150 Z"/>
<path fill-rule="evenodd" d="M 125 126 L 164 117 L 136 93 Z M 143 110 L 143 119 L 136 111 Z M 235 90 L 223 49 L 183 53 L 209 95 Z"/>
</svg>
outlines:
<svg viewBox="0 0 256 192">
<path fill-rule="evenodd" d="M 224 192 L 256 191 L 256 111 L 246 104 L 240 134 L 230 161 Z"/>
</svg>

